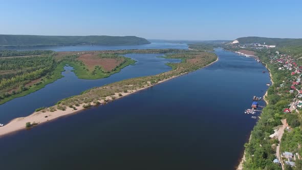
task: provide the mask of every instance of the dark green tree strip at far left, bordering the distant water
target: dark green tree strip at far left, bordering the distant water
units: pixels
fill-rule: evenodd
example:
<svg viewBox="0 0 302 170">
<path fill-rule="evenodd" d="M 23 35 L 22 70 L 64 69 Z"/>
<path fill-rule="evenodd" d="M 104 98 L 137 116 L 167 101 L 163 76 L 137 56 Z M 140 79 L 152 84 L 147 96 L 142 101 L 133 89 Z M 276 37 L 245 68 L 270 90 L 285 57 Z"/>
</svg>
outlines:
<svg viewBox="0 0 302 170">
<path fill-rule="evenodd" d="M 0 50 L 0 57 L 42 55 L 42 54 L 51 54 L 51 53 L 54 53 L 54 51 L 51 51 L 51 50 L 34 50 L 34 51 Z"/>
</svg>

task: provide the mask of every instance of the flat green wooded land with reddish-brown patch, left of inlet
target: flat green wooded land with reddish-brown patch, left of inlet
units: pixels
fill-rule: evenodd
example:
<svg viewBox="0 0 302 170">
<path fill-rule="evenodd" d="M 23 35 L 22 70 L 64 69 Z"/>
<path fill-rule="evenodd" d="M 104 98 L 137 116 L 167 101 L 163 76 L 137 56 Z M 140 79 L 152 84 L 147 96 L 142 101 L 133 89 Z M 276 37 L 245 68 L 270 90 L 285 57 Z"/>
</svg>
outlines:
<svg viewBox="0 0 302 170">
<path fill-rule="evenodd" d="M 62 77 L 70 65 L 83 79 L 99 79 L 135 64 L 127 53 L 172 53 L 183 50 L 118 50 L 86 52 L 0 50 L 0 104 L 33 93 Z"/>
</svg>

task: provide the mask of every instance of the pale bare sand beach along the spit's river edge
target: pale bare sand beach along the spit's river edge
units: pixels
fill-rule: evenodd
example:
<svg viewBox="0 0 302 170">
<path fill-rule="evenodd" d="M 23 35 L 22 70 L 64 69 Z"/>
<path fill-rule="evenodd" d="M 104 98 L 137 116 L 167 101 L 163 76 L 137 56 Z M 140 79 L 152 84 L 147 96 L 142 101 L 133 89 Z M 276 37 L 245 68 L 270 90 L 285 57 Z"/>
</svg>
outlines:
<svg viewBox="0 0 302 170">
<path fill-rule="evenodd" d="M 209 63 L 209 65 L 207 65 L 207 66 L 212 65 L 214 62 L 216 62 L 218 60 L 219 60 L 219 58 L 217 57 L 217 59 L 215 61 Z M 207 67 L 207 66 L 204 66 L 204 67 Z M 173 76 L 173 77 L 164 79 L 164 80 L 159 81 L 159 82 L 157 82 L 155 84 L 150 84 L 149 86 L 146 86 L 146 87 L 143 87 L 143 88 L 139 88 L 137 90 L 132 90 L 131 92 L 130 91 L 128 91 L 127 93 L 123 92 L 123 93 L 121 93 L 122 96 L 119 96 L 119 93 L 115 93 L 114 96 L 116 97 L 116 99 L 121 98 L 121 97 L 125 97 L 127 95 L 133 94 L 133 93 L 138 92 L 138 91 L 145 90 L 145 89 L 147 89 L 149 87 L 155 86 L 156 84 L 162 83 L 164 81 L 170 80 L 172 78 L 175 78 L 175 77 L 178 77 L 178 76 L 181 76 L 181 75 L 184 75 L 184 74 L 187 74 L 187 73 L 183 73 L 183 74 L 180 74 L 180 75 L 177 75 L 177 76 Z M 107 96 L 106 99 L 112 101 L 111 96 Z M 99 102 L 102 103 L 102 104 L 106 103 L 104 100 L 99 100 Z M 31 114 L 31 115 L 29 115 L 27 117 L 15 118 L 15 119 L 11 120 L 5 126 L 0 127 L 0 136 L 8 135 L 10 133 L 13 133 L 13 132 L 16 132 L 16 131 L 20 131 L 20 130 L 25 130 L 26 129 L 25 124 L 27 122 L 31 122 L 31 123 L 35 122 L 35 123 L 41 124 L 41 123 L 45 123 L 45 122 L 57 119 L 57 118 L 62 117 L 62 116 L 78 113 L 78 112 L 84 110 L 84 108 L 83 108 L 84 104 L 87 104 L 87 103 L 83 103 L 83 104 L 80 104 L 78 107 L 75 107 L 77 110 L 74 110 L 73 108 L 66 108 L 65 111 L 61 111 L 61 110 L 56 110 L 54 112 L 50 112 L 50 111 L 42 112 L 42 111 L 39 111 L 39 112 L 35 112 L 35 113 L 33 113 L 33 114 Z M 96 104 L 92 102 L 91 105 L 94 106 Z"/>
</svg>

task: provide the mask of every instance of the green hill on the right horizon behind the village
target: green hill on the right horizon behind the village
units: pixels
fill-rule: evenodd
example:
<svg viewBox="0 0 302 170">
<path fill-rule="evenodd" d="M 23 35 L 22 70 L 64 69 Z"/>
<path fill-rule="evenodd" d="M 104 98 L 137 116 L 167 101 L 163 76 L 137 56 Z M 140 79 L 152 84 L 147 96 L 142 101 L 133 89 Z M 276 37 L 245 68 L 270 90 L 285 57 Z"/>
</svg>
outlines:
<svg viewBox="0 0 302 170">
<path fill-rule="evenodd" d="M 302 38 L 266 38 L 266 37 L 241 37 L 237 38 L 239 44 L 250 44 L 250 43 L 260 43 L 265 45 L 276 45 L 276 46 L 301 46 Z"/>
</svg>

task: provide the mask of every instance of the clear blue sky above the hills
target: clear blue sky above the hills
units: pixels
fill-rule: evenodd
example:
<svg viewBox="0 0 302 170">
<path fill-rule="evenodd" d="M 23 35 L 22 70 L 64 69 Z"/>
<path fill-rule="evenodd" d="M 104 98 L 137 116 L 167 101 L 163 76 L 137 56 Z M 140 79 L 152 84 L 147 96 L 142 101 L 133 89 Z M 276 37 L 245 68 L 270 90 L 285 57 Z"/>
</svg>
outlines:
<svg viewBox="0 0 302 170">
<path fill-rule="evenodd" d="M 302 38 L 302 1 L 0 0 L 0 34 Z"/>
</svg>

